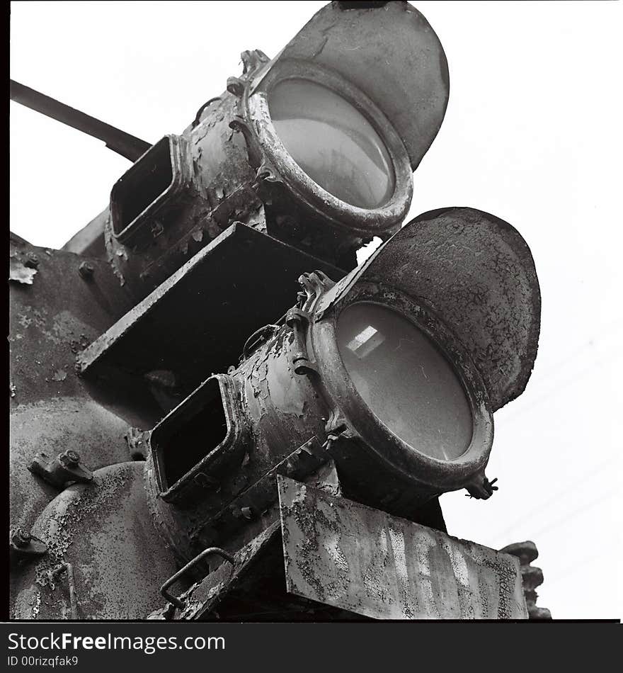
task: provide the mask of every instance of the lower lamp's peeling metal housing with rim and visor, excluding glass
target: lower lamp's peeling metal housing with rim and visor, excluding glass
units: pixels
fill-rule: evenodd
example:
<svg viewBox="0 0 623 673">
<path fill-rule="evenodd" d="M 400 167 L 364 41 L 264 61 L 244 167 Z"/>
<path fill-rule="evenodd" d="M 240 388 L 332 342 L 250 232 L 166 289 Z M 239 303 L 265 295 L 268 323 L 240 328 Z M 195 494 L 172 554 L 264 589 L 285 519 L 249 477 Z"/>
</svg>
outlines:
<svg viewBox="0 0 623 673">
<path fill-rule="evenodd" d="M 459 252 L 445 264 L 426 249 L 446 246 Z M 416 270 L 427 263 L 433 268 L 420 281 Z M 455 283 L 457 295 L 479 295 L 487 286 L 488 298 L 443 306 L 443 279 Z M 479 210 L 425 213 L 338 283 L 321 272 L 299 282 L 297 305 L 251 335 L 239 366 L 213 375 L 152 431 L 148 497 L 181 558 L 246 543 L 257 530 L 253 520 L 263 527 L 274 520 L 275 475 L 302 478 L 328 460 L 347 497 L 416 521 L 423 504 L 442 492 L 467 488 L 486 499 L 496 490 L 484 473 L 492 414 L 525 386 L 539 331 L 535 268 L 518 232 Z M 425 335 L 459 380 L 471 432 L 450 458 L 399 436 L 345 367 L 336 334 L 341 315 L 370 302 Z M 208 431 L 215 419 L 224 428 L 216 437 Z"/>
</svg>

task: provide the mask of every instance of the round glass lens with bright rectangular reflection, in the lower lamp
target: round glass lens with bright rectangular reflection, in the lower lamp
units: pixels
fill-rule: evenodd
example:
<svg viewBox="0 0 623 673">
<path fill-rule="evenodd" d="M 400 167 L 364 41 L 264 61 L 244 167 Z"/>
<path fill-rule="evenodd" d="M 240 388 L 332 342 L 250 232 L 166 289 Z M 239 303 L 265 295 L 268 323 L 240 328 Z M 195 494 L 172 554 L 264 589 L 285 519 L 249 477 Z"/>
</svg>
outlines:
<svg viewBox="0 0 623 673">
<path fill-rule="evenodd" d="M 358 302 L 338 317 L 337 343 L 355 388 L 402 441 L 440 460 L 467 451 L 472 421 L 463 386 L 412 322 L 388 307 Z"/>
</svg>

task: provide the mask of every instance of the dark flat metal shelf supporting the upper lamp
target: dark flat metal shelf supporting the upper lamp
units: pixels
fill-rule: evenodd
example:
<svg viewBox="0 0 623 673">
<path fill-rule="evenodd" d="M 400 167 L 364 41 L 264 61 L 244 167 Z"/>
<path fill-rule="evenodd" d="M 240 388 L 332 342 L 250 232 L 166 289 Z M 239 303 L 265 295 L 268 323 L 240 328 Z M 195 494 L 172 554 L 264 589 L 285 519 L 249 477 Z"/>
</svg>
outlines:
<svg viewBox="0 0 623 673">
<path fill-rule="evenodd" d="M 91 380 L 119 371 L 144 380 L 168 371 L 181 400 L 235 365 L 248 336 L 285 313 L 297 278 L 314 268 L 343 275 L 267 234 L 232 225 L 81 353 L 81 371 Z"/>
</svg>

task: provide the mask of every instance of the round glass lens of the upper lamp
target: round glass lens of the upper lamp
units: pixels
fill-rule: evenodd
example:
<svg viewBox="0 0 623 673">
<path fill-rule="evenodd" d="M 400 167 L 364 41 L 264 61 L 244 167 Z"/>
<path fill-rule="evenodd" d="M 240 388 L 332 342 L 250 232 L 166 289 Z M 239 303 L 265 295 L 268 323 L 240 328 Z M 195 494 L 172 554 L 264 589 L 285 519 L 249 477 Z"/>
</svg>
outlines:
<svg viewBox="0 0 623 673">
<path fill-rule="evenodd" d="M 394 193 L 391 159 L 348 101 L 307 79 L 285 79 L 270 91 L 268 106 L 285 149 L 314 182 L 358 208 L 387 203 Z"/>
</svg>

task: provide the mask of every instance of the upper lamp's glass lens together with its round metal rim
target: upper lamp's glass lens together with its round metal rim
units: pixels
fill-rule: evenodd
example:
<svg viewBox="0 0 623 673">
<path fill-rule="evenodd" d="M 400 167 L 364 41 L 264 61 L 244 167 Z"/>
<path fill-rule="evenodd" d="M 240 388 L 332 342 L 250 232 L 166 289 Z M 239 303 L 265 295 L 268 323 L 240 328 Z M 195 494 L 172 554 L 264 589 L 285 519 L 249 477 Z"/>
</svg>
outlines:
<svg viewBox="0 0 623 673">
<path fill-rule="evenodd" d="M 280 61 L 246 100 L 257 140 L 298 208 L 351 236 L 386 236 L 404 220 L 412 169 L 394 126 L 328 69 Z"/>
</svg>

